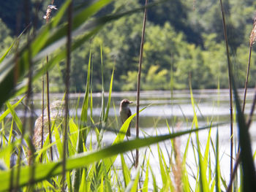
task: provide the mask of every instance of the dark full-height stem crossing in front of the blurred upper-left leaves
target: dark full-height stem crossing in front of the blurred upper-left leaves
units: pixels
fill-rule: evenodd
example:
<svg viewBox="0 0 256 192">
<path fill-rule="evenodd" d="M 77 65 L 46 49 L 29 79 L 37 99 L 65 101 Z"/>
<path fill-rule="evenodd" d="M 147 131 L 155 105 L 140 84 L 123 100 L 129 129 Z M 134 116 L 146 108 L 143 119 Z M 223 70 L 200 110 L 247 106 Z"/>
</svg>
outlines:
<svg viewBox="0 0 256 192">
<path fill-rule="evenodd" d="M 66 176 L 66 155 L 67 155 L 67 123 L 69 113 L 69 72 L 71 61 L 71 33 L 72 33 L 72 1 L 68 8 L 68 24 L 67 24 L 67 69 L 66 69 L 66 95 L 65 95 L 65 125 L 64 125 L 64 142 L 63 142 L 63 161 L 62 161 L 62 191 L 65 191 L 65 176 Z"/>
</svg>

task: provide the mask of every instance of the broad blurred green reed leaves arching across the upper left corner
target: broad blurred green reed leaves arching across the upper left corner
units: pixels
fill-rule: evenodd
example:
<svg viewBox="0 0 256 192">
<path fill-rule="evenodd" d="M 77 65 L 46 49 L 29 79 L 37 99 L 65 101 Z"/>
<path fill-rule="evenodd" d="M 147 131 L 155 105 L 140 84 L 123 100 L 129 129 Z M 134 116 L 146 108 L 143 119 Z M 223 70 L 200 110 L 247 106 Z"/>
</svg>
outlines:
<svg viewBox="0 0 256 192">
<path fill-rule="evenodd" d="M 66 1 L 64 6 L 67 6 L 69 2 L 70 0 Z M 75 23 L 75 25 L 73 25 L 72 28 L 72 51 L 80 47 L 83 42 L 86 42 L 91 37 L 93 37 L 94 34 L 96 34 L 106 23 L 117 20 L 124 15 L 129 15 L 143 10 L 143 7 L 140 7 L 138 9 L 132 9 L 127 12 L 108 15 L 102 18 L 96 18 L 86 23 L 91 15 L 99 11 L 102 6 L 105 6 L 108 3 L 110 3 L 110 0 L 97 1 L 94 4 L 91 4 L 91 6 L 89 7 L 84 7 L 78 15 L 75 15 L 75 17 L 73 18 L 73 23 Z M 67 7 L 64 8 L 67 9 Z M 64 8 L 61 8 L 61 10 Z M 64 24 L 54 26 L 58 24 L 59 20 L 61 20 L 64 11 L 60 12 L 59 14 L 60 15 L 57 14 L 56 16 L 59 18 L 57 18 L 56 20 L 53 18 L 53 20 L 48 23 L 46 27 L 42 28 L 39 31 L 37 37 L 32 39 L 29 44 L 18 50 L 18 55 L 20 55 L 18 62 L 15 62 L 16 57 L 14 54 L 11 58 L 6 58 L 1 63 L 0 90 L 2 91 L 2 93 L 0 95 L 0 107 L 4 103 L 4 101 L 7 101 L 7 99 L 9 99 L 15 93 L 20 94 L 24 93 L 27 90 L 28 83 L 26 82 L 25 77 L 26 74 L 29 72 L 29 60 L 32 60 L 33 64 L 35 64 L 37 63 L 37 61 L 45 58 L 46 55 L 54 53 L 54 56 L 50 57 L 48 64 L 45 64 L 44 67 L 34 72 L 34 76 L 32 78 L 34 82 L 34 80 L 37 80 L 39 77 L 41 77 L 42 74 L 44 74 L 47 70 L 51 69 L 61 60 L 66 58 L 67 47 L 64 46 L 64 48 L 61 50 L 59 50 L 58 48 L 65 45 L 66 43 L 65 36 L 67 35 L 67 22 L 65 23 L 64 21 Z M 29 58 L 29 50 L 31 50 L 31 58 Z M 19 69 L 18 77 L 16 77 L 16 69 Z M 17 85 L 17 82 L 15 82 L 15 80 L 23 82 L 20 82 Z"/>
</svg>

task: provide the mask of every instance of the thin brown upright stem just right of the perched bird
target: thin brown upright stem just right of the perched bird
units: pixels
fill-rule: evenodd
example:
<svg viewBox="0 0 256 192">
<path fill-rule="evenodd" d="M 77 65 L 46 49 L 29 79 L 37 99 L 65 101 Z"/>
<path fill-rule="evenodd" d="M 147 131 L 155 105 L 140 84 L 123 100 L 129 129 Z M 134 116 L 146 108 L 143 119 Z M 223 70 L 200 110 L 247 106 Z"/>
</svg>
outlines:
<svg viewBox="0 0 256 192">
<path fill-rule="evenodd" d="M 139 120 L 140 120 L 140 74 L 141 74 L 141 63 L 143 58 L 143 46 L 144 46 L 144 37 L 145 37 L 145 28 L 146 28 L 146 16 L 147 16 L 147 4 L 148 0 L 145 2 L 144 18 L 143 18 L 143 30 L 141 35 L 140 42 L 140 60 L 139 60 L 139 69 L 138 69 L 138 84 L 137 84 L 137 115 L 136 115 L 136 137 L 139 137 Z M 136 159 L 135 167 L 137 168 L 139 163 L 139 150 L 136 149 Z"/>
</svg>

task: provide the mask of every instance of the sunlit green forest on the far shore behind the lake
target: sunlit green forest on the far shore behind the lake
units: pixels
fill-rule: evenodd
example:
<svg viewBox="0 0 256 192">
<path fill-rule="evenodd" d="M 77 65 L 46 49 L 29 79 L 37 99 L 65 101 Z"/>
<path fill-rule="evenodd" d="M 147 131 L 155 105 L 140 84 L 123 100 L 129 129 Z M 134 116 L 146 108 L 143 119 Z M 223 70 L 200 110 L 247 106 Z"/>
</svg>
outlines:
<svg viewBox="0 0 256 192">
<path fill-rule="evenodd" d="M 43 15 L 50 1 L 33 1 L 37 7 L 37 27 L 45 24 Z M 80 4 L 81 1 L 75 1 Z M 62 1 L 55 1 L 57 7 Z M 227 34 L 233 59 L 233 72 L 239 87 L 244 87 L 248 62 L 249 34 L 252 31 L 256 1 L 225 0 L 227 14 Z M 97 14 L 121 12 L 143 5 L 144 1 L 114 1 Z M 123 6 L 125 5 L 125 6 Z M 1 1 L 0 7 L 0 56 L 12 44 L 26 26 L 20 12 L 20 1 Z M 121 7 L 121 8 L 119 8 Z M 124 8 L 125 7 L 125 8 Z M 36 9 L 33 10 L 37 12 Z M 54 15 L 54 11 L 53 11 Z M 242 15 L 242 17 L 241 17 Z M 113 91 L 135 91 L 137 85 L 138 58 L 140 48 L 143 13 L 124 17 L 109 23 L 97 36 L 72 53 L 70 90 L 85 90 L 89 53 L 92 53 L 93 90 L 101 90 L 101 52 L 105 71 L 104 81 L 109 85 L 109 77 L 115 67 Z M 143 71 L 141 89 L 167 90 L 170 78 L 176 89 L 227 88 L 227 58 L 222 29 L 219 2 L 215 0 L 169 0 L 148 9 L 146 24 Z M 22 42 L 21 42 L 22 43 Z M 14 51 L 14 50 L 13 50 Z M 250 77 L 255 76 L 256 55 L 252 53 Z M 50 91 L 64 91 L 64 62 L 50 71 Z M 255 85 L 255 78 L 249 79 L 249 87 Z M 35 83 L 36 91 L 41 82 Z"/>
</svg>

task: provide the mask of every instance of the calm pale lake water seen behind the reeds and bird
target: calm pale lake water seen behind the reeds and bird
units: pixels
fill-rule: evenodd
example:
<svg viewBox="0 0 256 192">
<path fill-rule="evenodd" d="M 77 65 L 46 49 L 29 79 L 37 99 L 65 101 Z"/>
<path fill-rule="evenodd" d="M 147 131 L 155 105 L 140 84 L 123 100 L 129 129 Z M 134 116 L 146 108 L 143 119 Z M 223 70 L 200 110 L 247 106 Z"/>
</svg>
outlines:
<svg viewBox="0 0 256 192">
<path fill-rule="evenodd" d="M 242 98 L 243 90 L 239 90 L 239 93 Z M 135 92 L 122 92 L 122 93 L 112 93 L 112 104 L 109 112 L 109 122 L 111 123 L 111 128 L 120 128 L 121 123 L 118 118 L 118 110 L 119 110 L 119 102 L 122 99 L 129 99 L 133 101 L 134 104 L 130 105 L 130 108 L 133 112 L 136 112 L 136 96 Z M 196 113 L 197 118 L 199 120 L 199 126 L 207 126 L 209 122 L 218 123 L 218 122 L 226 122 L 224 126 L 219 126 L 219 146 L 220 146 L 220 164 L 221 164 L 221 172 L 222 176 L 225 177 L 225 180 L 229 180 L 229 172 L 230 172 L 230 125 L 229 125 L 229 114 L 230 114 L 230 104 L 229 104 L 229 91 L 228 90 L 195 90 L 193 91 L 193 96 L 196 104 Z M 254 90 L 249 89 L 246 97 L 246 110 L 245 113 L 248 114 L 250 111 L 250 107 L 252 105 L 252 98 L 254 96 Z M 37 98 L 40 98 L 40 95 L 35 95 L 35 113 L 40 115 L 41 110 L 40 101 Z M 52 101 L 62 99 L 63 94 L 51 94 L 50 99 Z M 78 103 L 78 98 L 80 97 L 80 102 L 78 104 L 78 115 L 80 114 L 80 107 L 83 102 L 83 94 L 70 94 L 70 104 L 69 108 L 70 115 L 75 116 L 76 107 Z M 108 101 L 108 93 L 105 93 L 105 104 Z M 101 93 L 93 94 L 94 101 L 94 109 L 93 116 L 95 119 L 99 117 L 101 111 Z M 143 131 L 140 131 L 140 137 L 143 137 L 143 134 L 148 135 L 156 135 L 157 134 L 168 134 L 167 123 L 174 131 L 182 131 L 192 126 L 192 119 L 194 116 L 194 112 L 192 109 L 190 93 L 189 91 L 173 91 L 173 94 L 170 94 L 170 91 L 146 91 L 140 93 L 140 109 L 143 107 L 147 107 L 146 110 L 140 113 L 140 128 Z M 235 108 L 235 107 L 234 107 Z M 18 110 L 18 115 L 23 116 L 23 110 Z M 117 117 L 117 118 L 116 118 Z M 117 121 L 118 120 L 118 121 Z M 132 122 L 132 127 L 135 127 L 135 121 Z M 255 151 L 256 148 L 256 133 L 254 131 L 255 123 L 252 123 L 250 128 L 251 139 L 253 141 L 252 150 Z M 216 136 L 216 128 L 213 128 L 211 131 L 211 137 L 213 142 L 215 142 Z M 237 128 L 236 123 L 234 123 L 235 134 L 234 137 L 237 137 Z M 135 128 L 132 128 L 132 137 L 135 137 Z M 107 131 L 104 135 L 103 141 L 106 145 L 110 145 L 113 142 L 116 134 Z M 206 140 L 208 137 L 208 130 L 200 131 L 199 134 L 200 143 L 202 147 L 202 153 L 204 152 Z M 184 153 L 184 149 L 187 144 L 187 136 L 179 137 L 177 139 L 179 150 L 181 152 L 181 156 Z M 195 134 L 192 134 L 192 140 L 195 143 Z M 162 142 L 160 144 L 162 147 L 162 152 L 165 154 L 165 159 L 167 160 L 168 153 L 171 153 L 170 141 Z M 235 149 L 235 148 L 234 148 Z M 157 154 L 157 145 L 151 146 L 151 150 L 153 153 L 148 153 L 151 155 L 151 166 L 154 168 L 155 175 L 159 174 L 159 163 Z M 156 153 L 154 153 L 156 152 Z M 155 154 L 155 155 L 153 155 Z M 147 156 L 148 156 L 147 155 Z M 130 153 L 127 153 L 127 163 L 132 164 L 131 159 L 132 156 Z M 214 153 L 211 152 L 211 158 L 213 160 L 214 165 Z M 120 160 L 117 159 L 116 164 L 120 165 Z M 189 147 L 189 152 L 187 156 L 187 164 L 189 174 L 197 174 L 195 168 L 195 157 L 193 154 L 192 147 Z M 213 166 L 214 167 L 214 166 Z M 212 170 L 214 171 L 214 170 Z M 192 177 L 191 177 L 191 180 Z M 161 185 L 161 179 L 157 177 L 157 182 Z M 193 181 L 192 181 L 193 183 Z"/>
</svg>

